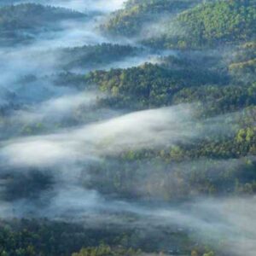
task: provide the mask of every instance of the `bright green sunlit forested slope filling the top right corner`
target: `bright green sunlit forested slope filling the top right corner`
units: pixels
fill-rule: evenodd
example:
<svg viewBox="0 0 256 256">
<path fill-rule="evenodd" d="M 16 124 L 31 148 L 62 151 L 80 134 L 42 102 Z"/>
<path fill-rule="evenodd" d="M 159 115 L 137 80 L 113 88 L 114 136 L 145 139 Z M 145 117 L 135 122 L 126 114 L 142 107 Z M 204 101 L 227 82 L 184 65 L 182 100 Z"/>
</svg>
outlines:
<svg viewBox="0 0 256 256">
<path fill-rule="evenodd" d="M 167 22 L 166 34 L 152 38 L 150 43 L 166 48 L 236 44 L 255 38 L 255 23 L 256 3 L 253 0 L 202 3 Z"/>
</svg>

